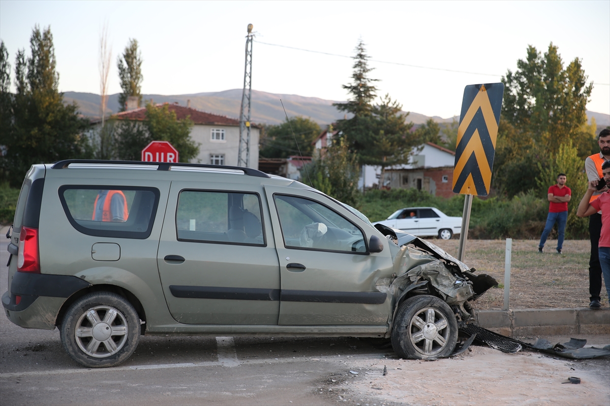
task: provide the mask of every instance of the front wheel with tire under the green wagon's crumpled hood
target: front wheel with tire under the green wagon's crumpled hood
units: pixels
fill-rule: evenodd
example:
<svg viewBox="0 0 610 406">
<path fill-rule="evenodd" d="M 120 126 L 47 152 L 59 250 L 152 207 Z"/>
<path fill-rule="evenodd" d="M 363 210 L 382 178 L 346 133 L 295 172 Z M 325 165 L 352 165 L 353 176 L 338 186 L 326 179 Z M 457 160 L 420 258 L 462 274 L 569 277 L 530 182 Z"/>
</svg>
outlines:
<svg viewBox="0 0 610 406">
<path fill-rule="evenodd" d="M 404 359 L 451 355 L 458 343 L 458 321 L 447 303 L 418 295 L 400 305 L 392 330 L 392 348 Z"/>
</svg>

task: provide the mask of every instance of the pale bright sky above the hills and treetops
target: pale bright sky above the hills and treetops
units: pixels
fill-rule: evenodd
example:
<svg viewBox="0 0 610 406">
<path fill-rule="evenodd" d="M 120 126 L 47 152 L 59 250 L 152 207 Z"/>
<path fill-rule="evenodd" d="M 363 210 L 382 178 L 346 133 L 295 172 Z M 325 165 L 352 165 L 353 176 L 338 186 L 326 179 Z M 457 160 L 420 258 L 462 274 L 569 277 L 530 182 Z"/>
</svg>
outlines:
<svg viewBox="0 0 610 406">
<path fill-rule="evenodd" d="M 594 82 L 587 109 L 610 114 L 608 21 L 610 1 L 0 1 L 13 67 L 18 49 L 29 54 L 34 26 L 51 26 L 60 91 L 100 93 L 104 24 L 110 94 L 121 91 L 116 60 L 129 38 L 142 51 L 144 94 L 240 89 L 251 23 L 253 89 L 346 100 L 347 57 L 362 38 L 378 96 L 443 118 L 459 115 L 464 86 L 500 82 L 528 45 L 545 52 L 551 41 L 565 65 L 580 58 Z"/>
</svg>

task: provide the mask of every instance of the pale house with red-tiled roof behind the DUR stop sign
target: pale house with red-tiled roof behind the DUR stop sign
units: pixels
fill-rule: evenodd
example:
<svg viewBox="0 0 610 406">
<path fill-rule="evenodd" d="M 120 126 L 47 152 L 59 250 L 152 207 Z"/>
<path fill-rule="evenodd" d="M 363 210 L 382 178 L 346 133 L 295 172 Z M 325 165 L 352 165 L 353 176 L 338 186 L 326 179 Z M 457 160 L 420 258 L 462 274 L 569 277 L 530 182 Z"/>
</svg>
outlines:
<svg viewBox="0 0 610 406">
<path fill-rule="evenodd" d="M 176 117 L 179 120 L 190 117 L 195 124 L 190 136 L 193 141 L 201 145 L 199 146 L 199 155 L 191 160 L 193 163 L 237 166 L 239 120 L 219 116 L 218 114 L 205 113 L 194 108 L 181 106 L 178 103 L 165 104 L 168 105 L 170 111 L 176 112 Z M 163 107 L 163 104 L 157 104 L 157 107 Z M 146 108 L 141 107 L 114 114 L 112 118 L 144 121 L 145 113 Z M 93 124 L 99 125 L 99 121 L 93 122 Z M 260 128 L 257 125 L 252 125 L 250 130 L 249 167 L 254 169 L 258 169 L 259 164 L 259 138 Z"/>
</svg>

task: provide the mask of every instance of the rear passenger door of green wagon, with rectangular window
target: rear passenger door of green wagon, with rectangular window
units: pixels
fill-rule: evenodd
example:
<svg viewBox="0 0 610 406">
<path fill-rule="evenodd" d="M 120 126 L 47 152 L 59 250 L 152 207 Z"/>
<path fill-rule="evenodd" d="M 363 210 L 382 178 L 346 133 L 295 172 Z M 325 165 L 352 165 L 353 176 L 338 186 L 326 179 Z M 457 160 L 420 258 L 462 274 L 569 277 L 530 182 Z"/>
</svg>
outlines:
<svg viewBox="0 0 610 406">
<path fill-rule="evenodd" d="M 279 264 L 262 187 L 203 186 L 171 184 L 157 254 L 171 315 L 186 324 L 278 324 Z"/>
</svg>

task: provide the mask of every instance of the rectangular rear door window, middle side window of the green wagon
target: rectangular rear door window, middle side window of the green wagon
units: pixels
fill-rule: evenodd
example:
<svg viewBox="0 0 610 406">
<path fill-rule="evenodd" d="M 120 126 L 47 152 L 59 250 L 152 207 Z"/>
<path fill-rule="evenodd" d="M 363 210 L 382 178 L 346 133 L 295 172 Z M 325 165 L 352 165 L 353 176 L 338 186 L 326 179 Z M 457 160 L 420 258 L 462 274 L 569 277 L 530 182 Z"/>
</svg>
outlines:
<svg viewBox="0 0 610 406">
<path fill-rule="evenodd" d="M 257 194 L 185 190 L 176 234 L 180 241 L 265 245 L 261 219 Z"/>
</svg>

